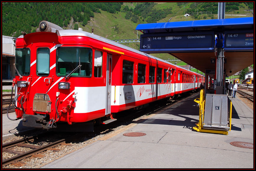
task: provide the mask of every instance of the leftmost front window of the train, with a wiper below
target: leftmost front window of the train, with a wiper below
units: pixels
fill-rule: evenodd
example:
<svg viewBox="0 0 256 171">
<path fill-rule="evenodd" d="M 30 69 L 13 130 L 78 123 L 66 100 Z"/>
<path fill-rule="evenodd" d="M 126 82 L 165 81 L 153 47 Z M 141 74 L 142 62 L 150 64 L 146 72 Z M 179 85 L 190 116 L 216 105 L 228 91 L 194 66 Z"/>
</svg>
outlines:
<svg viewBox="0 0 256 171">
<path fill-rule="evenodd" d="M 29 75 L 30 73 L 30 49 L 15 50 L 15 67 L 20 75 Z M 17 71 L 15 72 L 17 75 Z"/>
</svg>

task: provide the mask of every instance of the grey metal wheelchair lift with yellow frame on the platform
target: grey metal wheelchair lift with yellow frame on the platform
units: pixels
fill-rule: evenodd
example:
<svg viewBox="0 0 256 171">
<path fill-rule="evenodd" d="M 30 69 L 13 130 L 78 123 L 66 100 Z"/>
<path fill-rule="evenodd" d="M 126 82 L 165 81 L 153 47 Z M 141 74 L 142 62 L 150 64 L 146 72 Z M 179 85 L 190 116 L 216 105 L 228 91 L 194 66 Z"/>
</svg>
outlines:
<svg viewBox="0 0 256 171">
<path fill-rule="evenodd" d="M 231 130 L 232 101 L 230 100 L 228 106 L 227 95 L 206 94 L 205 98 L 204 90 L 201 90 L 200 98 L 194 101 L 199 104 L 199 122 L 193 129 L 198 132 L 228 135 Z"/>
</svg>

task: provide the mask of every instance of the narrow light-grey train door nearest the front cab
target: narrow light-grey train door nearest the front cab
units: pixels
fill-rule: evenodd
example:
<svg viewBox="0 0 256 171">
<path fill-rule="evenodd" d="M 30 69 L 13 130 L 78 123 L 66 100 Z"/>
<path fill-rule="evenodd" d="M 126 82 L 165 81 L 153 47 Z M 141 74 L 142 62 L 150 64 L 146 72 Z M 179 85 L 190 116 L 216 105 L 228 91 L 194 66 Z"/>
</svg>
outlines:
<svg viewBox="0 0 256 171">
<path fill-rule="evenodd" d="M 112 82 L 112 55 L 107 54 L 107 100 L 106 100 L 106 112 L 105 115 L 111 113 L 111 82 Z"/>
</svg>

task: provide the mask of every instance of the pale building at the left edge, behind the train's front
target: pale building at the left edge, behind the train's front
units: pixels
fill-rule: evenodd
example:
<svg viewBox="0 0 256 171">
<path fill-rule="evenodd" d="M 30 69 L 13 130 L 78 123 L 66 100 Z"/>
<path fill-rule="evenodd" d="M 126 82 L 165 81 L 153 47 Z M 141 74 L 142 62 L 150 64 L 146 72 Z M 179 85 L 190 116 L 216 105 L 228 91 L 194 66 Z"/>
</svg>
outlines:
<svg viewBox="0 0 256 171">
<path fill-rule="evenodd" d="M 2 82 L 12 82 L 15 74 L 16 38 L 2 35 Z"/>
</svg>

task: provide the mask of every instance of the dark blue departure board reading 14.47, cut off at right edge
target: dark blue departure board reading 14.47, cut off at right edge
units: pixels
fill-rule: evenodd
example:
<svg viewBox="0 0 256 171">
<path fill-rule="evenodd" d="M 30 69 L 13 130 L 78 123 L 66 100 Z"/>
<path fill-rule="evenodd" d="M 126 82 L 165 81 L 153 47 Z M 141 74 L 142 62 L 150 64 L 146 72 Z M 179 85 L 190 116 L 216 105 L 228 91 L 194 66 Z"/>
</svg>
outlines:
<svg viewBox="0 0 256 171">
<path fill-rule="evenodd" d="M 225 31 L 225 51 L 253 51 L 253 30 Z"/>
</svg>

